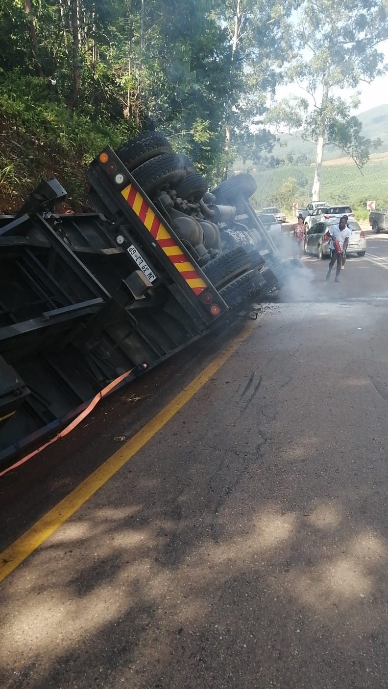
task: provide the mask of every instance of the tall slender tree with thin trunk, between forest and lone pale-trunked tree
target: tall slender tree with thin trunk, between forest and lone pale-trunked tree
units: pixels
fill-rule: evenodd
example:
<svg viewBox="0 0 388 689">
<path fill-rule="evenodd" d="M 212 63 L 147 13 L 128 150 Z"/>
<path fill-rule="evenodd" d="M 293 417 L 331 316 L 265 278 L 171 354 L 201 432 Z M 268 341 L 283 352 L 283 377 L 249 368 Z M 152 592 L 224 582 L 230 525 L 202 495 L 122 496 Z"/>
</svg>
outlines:
<svg viewBox="0 0 388 689">
<path fill-rule="evenodd" d="M 288 18 L 292 0 L 224 0 L 218 19 L 229 30 L 229 74 L 225 103 L 225 165 L 238 150 L 243 159 L 260 162 L 275 143 L 262 127 L 269 92 L 281 79 L 280 68 L 289 57 L 291 34 Z"/>
</svg>

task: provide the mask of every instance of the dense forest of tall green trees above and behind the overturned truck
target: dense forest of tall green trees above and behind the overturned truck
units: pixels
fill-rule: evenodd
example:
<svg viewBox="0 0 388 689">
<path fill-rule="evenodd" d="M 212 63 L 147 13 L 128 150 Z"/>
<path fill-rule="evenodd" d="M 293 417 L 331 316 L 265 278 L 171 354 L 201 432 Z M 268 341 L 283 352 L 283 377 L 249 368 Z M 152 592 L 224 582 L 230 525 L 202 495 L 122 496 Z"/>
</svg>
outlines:
<svg viewBox="0 0 388 689">
<path fill-rule="evenodd" d="M 277 85 L 290 79 L 313 88 L 327 83 L 313 118 L 291 125 L 309 127 L 320 141 L 328 132 L 330 143 L 362 166 L 374 142 L 331 97 L 330 79 L 356 88 L 363 76 L 381 73 L 387 13 L 374 0 L 321 4 L 317 17 L 313 0 L 1 0 L 0 212 L 20 205 L 41 176 L 59 178 L 77 207 L 88 162 L 107 143 L 117 147 L 142 130 L 165 134 L 209 184 L 237 157 L 276 167 L 270 106 Z M 296 10 L 304 17 L 299 37 Z M 380 37 L 369 49 L 365 18 L 374 12 Z M 320 61 L 313 56 L 301 65 L 309 23 L 320 22 L 324 37 L 343 21 L 351 41 L 339 55 L 330 51 L 346 72 L 327 76 L 323 39 Z M 305 106 L 294 103 L 293 112 Z M 284 124 L 284 106 L 274 116 Z"/>
</svg>

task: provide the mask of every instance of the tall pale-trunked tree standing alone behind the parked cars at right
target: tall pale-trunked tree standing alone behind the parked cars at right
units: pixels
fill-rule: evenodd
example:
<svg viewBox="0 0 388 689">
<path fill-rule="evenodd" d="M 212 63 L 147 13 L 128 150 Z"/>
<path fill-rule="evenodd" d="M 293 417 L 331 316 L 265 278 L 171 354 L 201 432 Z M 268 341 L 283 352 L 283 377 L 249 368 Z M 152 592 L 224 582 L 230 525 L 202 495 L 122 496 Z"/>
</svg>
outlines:
<svg viewBox="0 0 388 689">
<path fill-rule="evenodd" d="M 380 140 L 362 136 L 360 121 L 350 116 L 358 105 L 338 96 L 338 90 L 356 90 L 385 73 L 378 46 L 388 37 L 386 0 L 304 0 L 299 10 L 296 48 L 302 52 L 289 66 L 288 79 L 307 96 L 281 101 L 267 121 L 310 138 L 316 143 L 312 198 L 319 200 L 324 147 L 336 145 L 353 158 L 359 169 Z M 312 103 L 312 110 L 309 104 Z"/>
</svg>

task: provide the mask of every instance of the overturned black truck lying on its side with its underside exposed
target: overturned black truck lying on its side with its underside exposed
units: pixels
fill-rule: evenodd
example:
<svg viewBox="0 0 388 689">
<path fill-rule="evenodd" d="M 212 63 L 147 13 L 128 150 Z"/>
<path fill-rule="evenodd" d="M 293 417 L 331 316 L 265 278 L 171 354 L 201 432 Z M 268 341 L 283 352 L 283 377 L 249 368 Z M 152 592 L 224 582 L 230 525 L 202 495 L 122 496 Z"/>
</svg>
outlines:
<svg viewBox="0 0 388 689">
<path fill-rule="evenodd" d="M 130 381 L 282 286 L 239 175 L 212 192 L 157 132 L 86 172 L 93 213 L 42 181 L 0 216 L 0 475 Z"/>
</svg>

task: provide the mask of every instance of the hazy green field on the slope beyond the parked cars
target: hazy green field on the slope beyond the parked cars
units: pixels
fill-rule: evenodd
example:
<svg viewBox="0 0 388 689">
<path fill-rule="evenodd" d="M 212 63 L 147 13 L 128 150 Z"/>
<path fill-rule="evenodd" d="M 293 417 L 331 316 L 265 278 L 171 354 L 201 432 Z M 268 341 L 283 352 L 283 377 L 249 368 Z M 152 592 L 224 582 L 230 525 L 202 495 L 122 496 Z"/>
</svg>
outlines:
<svg viewBox="0 0 388 689">
<path fill-rule="evenodd" d="M 251 174 L 258 184 L 253 197 L 256 207 L 275 203 L 290 213 L 293 202 L 302 207 L 311 200 L 313 165 L 282 165 Z M 322 167 L 320 198 L 333 204 L 349 203 L 360 218 L 367 217 L 367 200 L 376 200 L 376 207 L 387 207 L 388 158 L 372 159 L 362 174 L 356 165 L 327 163 Z"/>
</svg>

